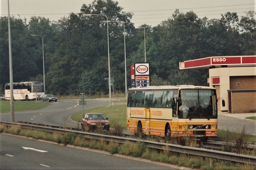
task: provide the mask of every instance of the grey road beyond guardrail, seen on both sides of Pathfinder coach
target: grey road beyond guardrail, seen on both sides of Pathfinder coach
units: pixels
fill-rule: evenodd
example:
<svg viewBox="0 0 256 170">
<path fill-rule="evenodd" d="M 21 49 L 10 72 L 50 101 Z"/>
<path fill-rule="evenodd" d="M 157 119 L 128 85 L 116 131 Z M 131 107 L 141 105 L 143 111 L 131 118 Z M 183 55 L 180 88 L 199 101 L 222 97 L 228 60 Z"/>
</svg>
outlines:
<svg viewBox="0 0 256 170">
<path fill-rule="evenodd" d="M 115 100 L 124 100 L 124 98 L 112 99 L 112 101 Z M 84 105 L 84 110 L 109 105 L 108 98 L 90 99 L 86 100 L 86 102 L 87 103 L 86 105 Z M 70 119 L 70 116 L 74 113 L 81 111 L 82 105 L 78 105 L 78 100 L 58 100 L 58 102 L 50 102 L 48 106 L 39 110 L 14 112 L 14 121 L 36 122 L 52 126 L 66 126 L 77 128 L 78 123 L 72 121 Z M 235 116 L 235 114 L 232 114 L 232 116 Z M 10 113 L 0 114 L 0 120 L 10 121 Z M 230 117 L 230 114 L 218 114 L 218 129 L 240 133 L 244 127 L 246 129 L 246 133 L 256 135 L 255 121 Z"/>
</svg>

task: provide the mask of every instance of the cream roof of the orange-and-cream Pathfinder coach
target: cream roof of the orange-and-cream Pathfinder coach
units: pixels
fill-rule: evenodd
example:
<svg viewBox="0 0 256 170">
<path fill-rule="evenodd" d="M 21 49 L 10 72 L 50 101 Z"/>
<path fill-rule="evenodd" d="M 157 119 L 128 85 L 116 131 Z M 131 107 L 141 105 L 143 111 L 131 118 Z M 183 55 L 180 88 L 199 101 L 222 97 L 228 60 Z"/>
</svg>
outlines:
<svg viewBox="0 0 256 170">
<path fill-rule="evenodd" d="M 178 89 L 216 89 L 208 86 L 194 86 L 194 85 L 177 85 L 177 86 L 147 86 L 143 88 L 129 88 L 132 91 L 143 91 L 143 90 L 178 90 Z"/>
</svg>

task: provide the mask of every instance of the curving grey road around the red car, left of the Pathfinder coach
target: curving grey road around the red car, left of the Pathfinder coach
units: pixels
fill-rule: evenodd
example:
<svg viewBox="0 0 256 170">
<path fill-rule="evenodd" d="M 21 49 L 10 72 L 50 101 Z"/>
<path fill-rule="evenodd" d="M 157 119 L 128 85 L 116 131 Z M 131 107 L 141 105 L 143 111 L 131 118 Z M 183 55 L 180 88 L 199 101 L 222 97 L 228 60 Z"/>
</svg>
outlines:
<svg viewBox="0 0 256 170">
<path fill-rule="evenodd" d="M 86 100 L 86 102 L 84 110 L 109 105 L 108 99 Z M 78 100 L 58 100 L 58 102 L 50 102 L 48 106 L 39 110 L 15 112 L 14 109 L 14 122 L 36 122 L 52 126 L 76 128 L 78 123 L 70 120 L 70 116 L 81 111 L 82 105 L 79 105 Z M 0 114 L 0 120 L 10 121 L 10 113 Z"/>
</svg>

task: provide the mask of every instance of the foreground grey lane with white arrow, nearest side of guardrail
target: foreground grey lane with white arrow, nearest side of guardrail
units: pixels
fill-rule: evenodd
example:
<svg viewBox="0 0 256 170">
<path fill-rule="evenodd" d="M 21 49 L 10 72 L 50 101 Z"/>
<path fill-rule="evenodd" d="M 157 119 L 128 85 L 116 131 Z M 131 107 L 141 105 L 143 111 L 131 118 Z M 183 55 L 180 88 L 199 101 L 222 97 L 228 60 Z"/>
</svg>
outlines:
<svg viewBox="0 0 256 170">
<path fill-rule="evenodd" d="M 0 144 L 0 169 L 178 170 L 182 168 L 139 162 L 111 156 L 110 154 L 96 153 L 6 134 L 0 134 Z"/>
</svg>

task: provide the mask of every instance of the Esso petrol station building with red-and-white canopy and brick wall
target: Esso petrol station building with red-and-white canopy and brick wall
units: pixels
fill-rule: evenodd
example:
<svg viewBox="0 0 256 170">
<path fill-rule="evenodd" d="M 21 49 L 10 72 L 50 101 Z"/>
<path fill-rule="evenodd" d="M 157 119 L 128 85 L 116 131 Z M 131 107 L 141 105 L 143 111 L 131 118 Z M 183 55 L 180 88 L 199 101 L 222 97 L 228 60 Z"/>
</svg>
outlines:
<svg viewBox="0 0 256 170">
<path fill-rule="evenodd" d="M 219 111 L 256 112 L 256 56 L 214 56 L 180 62 L 180 70 L 184 69 L 209 69 L 208 83 L 216 88 Z"/>
</svg>

